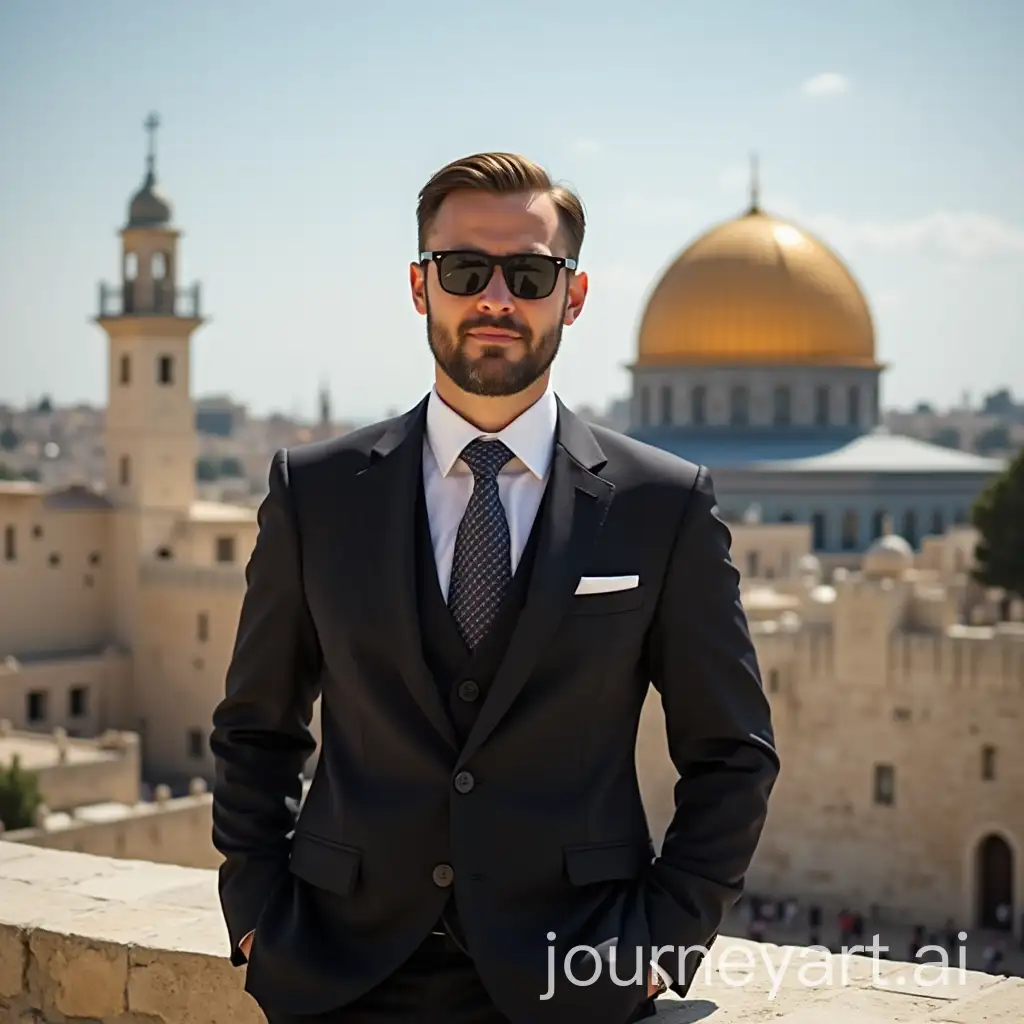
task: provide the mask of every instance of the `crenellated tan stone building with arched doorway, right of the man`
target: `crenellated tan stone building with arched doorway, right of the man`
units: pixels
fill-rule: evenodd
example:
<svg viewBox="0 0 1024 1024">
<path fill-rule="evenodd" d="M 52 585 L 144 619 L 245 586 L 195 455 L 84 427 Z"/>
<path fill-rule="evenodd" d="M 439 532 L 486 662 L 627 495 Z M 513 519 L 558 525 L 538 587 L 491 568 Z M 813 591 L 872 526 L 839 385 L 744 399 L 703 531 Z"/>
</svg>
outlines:
<svg viewBox="0 0 1024 1024">
<path fill-rule="evenodd" d="M 1000 928 L 1006 905 L 1024 937 L 1024 602 L 971 581 L 973 529 L 918 554 L 884 532 L 828 579 L 803 528 L 736 527 L 782 762 L 748 890 L 934 928 Z M 653 693 L 637 760 L 660 836 L 676 774 Z"/>
</svg>

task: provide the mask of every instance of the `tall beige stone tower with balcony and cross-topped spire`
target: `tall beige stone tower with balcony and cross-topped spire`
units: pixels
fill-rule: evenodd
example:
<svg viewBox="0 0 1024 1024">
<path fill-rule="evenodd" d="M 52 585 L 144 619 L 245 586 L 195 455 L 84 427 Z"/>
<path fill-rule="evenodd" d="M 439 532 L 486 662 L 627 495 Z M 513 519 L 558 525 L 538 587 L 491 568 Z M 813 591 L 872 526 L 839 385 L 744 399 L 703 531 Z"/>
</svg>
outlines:
<svg viewBox="0 0 1024 1024">
<path fill-rule="evenodd" d="M 100 284 L 95 317 L 109 339 L 106 493 L 122 508 L 187 514 L 196 493 L 190 342 L 200 288 L 178 287 L 178 231 L 157 184 L 151 114 L 146 171 L 121 229 L 121 281 Z"/>
</svg>

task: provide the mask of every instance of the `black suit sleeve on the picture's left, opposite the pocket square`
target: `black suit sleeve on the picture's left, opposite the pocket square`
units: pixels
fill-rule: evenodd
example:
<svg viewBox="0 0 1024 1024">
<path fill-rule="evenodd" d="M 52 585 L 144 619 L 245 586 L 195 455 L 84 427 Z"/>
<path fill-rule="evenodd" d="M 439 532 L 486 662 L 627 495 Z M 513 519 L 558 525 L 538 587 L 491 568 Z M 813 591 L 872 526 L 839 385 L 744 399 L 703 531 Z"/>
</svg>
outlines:
<svg viewBox="0 0 1024 1024">
<path fill-rule="evenodd" d="M 270 888 L 288 869 L 302 769 L 316 746 L 310 722 L 322 655 L 305 601 L 289 488 L 288 454 L 281 451 L 258 513 L 225 692 L 210 737 L 213 844 L 224 857 L 220 901 L 237 967 L 245 963 L 239 942 L 256 927 Z"/>
</svg>

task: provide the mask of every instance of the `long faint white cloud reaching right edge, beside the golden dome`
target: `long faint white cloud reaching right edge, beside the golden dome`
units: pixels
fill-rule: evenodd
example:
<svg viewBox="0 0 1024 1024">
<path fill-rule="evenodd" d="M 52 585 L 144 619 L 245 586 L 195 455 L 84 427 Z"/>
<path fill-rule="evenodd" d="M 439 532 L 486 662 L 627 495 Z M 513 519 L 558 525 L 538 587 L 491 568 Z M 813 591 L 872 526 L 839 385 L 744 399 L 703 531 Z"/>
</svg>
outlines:
<svg viewBox="0 0 1024 1024">
<path fill-rule="evenodd" d="M 936 210 L 912 220 L 851 221 L 824 214 L 807 226 L 843 248 L 860 246 L 953 259 L 1024 256 L 1024 227 L 970 211 Z"/>
</svg>

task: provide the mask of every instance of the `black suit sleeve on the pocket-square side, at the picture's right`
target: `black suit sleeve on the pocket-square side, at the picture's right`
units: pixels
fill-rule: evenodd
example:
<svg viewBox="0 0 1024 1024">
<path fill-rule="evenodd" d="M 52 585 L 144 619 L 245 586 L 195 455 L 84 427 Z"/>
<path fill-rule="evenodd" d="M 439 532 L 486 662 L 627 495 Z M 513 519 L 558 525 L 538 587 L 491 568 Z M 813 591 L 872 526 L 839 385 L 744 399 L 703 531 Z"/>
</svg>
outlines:
<svg viewBox="0 0 1024 1024">
<path fill-rule="evenodd" d="M 647 648 L 679 778 L 675 813 L 645 880 L 646 911 L 652 944 L 673 950 L 663 963 L 680 995 L 692 979 L 675 977 L 677 950 L 710 947 L 742 893 L 779 772 L 731 543 L 701 467 Z"/>
</svg>

